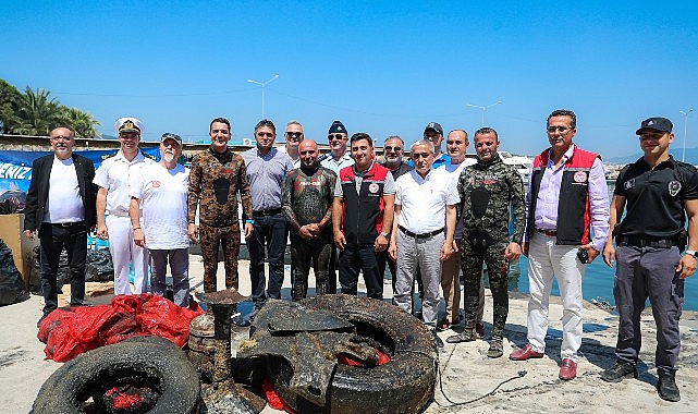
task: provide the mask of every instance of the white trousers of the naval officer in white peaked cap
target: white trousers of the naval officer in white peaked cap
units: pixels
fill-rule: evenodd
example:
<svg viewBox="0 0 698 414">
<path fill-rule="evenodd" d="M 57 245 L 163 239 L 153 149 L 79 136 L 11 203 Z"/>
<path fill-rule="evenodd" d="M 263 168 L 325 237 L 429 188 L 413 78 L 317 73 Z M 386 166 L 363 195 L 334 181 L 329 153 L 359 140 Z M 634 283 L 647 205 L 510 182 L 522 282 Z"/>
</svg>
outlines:
<svg viewBox="0 0 698 414">
<path fill-rule="evenodd" d="M 131 294 L 128 264 L 133 263 L 133 293 L 146 293 L 148 249 L 133 242 L 133 228 L 128 217 L 109 215 L 105 223 L 109 232 L 109 252 L 114 265 L 114 294 Z M 143 226 L 143 223 L 140 224 Z"/>
</svg>

